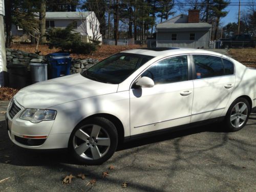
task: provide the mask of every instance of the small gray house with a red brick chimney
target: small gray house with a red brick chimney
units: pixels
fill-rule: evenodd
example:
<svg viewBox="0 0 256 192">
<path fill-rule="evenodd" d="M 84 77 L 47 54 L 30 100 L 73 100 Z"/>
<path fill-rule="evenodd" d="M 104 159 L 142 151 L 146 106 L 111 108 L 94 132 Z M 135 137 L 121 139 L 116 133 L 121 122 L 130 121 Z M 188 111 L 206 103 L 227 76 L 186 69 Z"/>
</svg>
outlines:
<svg viewBox="0 0 256 192">
<path fill-rule="evenodd" d="M 198 10 L 170 18 L 156 28 L 157 47 L 209 47 L 211 25 L 199 20 Z"/>
</svg>

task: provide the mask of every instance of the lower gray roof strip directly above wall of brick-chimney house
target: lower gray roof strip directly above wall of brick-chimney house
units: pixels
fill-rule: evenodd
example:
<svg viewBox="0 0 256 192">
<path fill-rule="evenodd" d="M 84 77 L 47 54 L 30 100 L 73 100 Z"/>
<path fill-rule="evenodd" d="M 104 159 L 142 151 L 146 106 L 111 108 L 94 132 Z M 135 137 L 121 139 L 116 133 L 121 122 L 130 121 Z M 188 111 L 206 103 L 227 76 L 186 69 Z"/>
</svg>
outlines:
<svg viewBox="0 0 256 192">
<path fill-rule="evenodd" d="M 186 29 L 186 28 L 211 28 L 208 23 L 161 23 L 157 24 L 157 29 Z"/>
</svg>

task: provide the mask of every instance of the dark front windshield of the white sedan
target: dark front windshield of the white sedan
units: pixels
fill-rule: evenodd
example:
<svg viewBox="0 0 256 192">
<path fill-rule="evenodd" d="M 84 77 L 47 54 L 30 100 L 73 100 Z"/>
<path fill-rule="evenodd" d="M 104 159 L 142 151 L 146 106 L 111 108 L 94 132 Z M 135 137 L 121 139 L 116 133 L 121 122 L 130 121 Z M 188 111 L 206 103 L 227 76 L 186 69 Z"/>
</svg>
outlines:
<svg viewBox="0 0 256 192">
<path fill-rule="evenodd" d="M 82 76 L 104 83 L 119 84 L 153 56 L 117 53 L 81 73 Z"/>
</svg>

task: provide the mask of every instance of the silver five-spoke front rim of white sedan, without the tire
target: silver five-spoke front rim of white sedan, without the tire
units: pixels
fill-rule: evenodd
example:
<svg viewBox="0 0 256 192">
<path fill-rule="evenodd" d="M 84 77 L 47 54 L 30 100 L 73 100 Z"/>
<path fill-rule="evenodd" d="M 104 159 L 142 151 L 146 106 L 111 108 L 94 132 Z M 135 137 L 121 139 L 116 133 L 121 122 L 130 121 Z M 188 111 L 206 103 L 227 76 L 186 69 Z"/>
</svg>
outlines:
<svg viewBox="0 0 256 192">
<path fill-rule="evenodd" d="M 74 151 L 80 157 L 96 160 L 103 157 L 110 149 L 110 136 L 106 130 L 96 124 L 80 127 L 73 137 Z"/>
</svg>

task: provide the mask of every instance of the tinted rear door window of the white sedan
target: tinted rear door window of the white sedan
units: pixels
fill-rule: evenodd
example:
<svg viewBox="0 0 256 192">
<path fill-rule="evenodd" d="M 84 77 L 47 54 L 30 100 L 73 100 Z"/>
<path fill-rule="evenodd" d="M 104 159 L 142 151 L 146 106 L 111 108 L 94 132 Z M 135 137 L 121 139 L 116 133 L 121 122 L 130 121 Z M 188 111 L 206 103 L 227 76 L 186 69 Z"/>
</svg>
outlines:
<svg viewBox="0 0 256 192">
<path fill-rule="evenodd" d="M 193 59 L 198 79 L 224 75 L 221 57 L 211 55 L 193 55 Z"/>
</svg>

